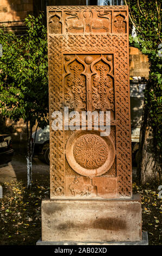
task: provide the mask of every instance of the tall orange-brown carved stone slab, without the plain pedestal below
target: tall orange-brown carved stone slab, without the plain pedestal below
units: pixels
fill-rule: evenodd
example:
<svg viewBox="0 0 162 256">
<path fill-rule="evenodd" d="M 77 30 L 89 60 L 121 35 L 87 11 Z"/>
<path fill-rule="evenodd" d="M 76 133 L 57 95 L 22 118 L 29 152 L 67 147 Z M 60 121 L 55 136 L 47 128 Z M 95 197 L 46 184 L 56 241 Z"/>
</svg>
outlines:
<svg viewBox="0 0 162 256">
<path fill-rule="evenodd" d="M 81 16 L 84 26 L 79 23 Z M 78 111 L 103 109 L 110 110 L 114 127 L 107 138 L 94 130 L 51 128 L 51 198 L 131 197 L 128 8 L 48 7 L 48 21 L 50 119 L 53 111 L 63 112 L 64 106 Z M 53 26 L 52 30 L 52 23 L 59 22 L 61 29 Z M 95 142 L 91 148 L 86 147 L 89 137 Z M 90 162 L 86 152 L 94 156 L 96 145 L 95 160 Z"/>
</svg>

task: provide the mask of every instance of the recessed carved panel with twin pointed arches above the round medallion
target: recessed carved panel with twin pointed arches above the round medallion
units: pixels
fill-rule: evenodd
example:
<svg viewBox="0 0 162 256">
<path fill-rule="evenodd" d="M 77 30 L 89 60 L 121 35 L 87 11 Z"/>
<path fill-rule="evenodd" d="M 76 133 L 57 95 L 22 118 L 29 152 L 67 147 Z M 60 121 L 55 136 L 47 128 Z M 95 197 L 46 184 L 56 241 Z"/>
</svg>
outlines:
<svg viewBox="0 0 162 256">
<path fill-rule="evenodd" d="M 114 112 L 113 54 L 72 54 L 65 60 L 65 105 Z"/>
</svg>

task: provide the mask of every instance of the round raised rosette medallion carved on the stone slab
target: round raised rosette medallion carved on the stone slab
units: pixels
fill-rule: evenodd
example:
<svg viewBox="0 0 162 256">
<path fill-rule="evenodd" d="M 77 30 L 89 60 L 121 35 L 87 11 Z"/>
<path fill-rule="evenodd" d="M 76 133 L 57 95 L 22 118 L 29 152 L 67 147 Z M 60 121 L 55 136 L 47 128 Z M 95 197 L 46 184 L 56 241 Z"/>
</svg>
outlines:
<svg viewBox="0 0 162 256">
<path fill-rule="evenodd" d="M 114 163 L 115 145 L 99 131 L 77 131 L 66 144 L 66 159 L 71 168 L 84 176 L 99 176 Z"/>
</svg>

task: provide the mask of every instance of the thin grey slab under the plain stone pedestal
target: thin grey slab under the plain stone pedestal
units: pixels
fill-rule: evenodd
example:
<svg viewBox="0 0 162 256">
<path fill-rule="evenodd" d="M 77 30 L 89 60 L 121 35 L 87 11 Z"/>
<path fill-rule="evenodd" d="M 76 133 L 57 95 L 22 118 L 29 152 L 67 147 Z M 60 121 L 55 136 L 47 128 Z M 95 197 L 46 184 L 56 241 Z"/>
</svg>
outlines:
<svg viewBox="0 0 162 256">
<path fill-rule="evenodd" d="M 148 245 L 148 235 L 147 232 L 142 231 L 142 240 L 141 241 L 126 241 L 126 242 L 52 242 L 52 241 L 42 241 L 38 240 L 36 245 Z"/>
</svg>

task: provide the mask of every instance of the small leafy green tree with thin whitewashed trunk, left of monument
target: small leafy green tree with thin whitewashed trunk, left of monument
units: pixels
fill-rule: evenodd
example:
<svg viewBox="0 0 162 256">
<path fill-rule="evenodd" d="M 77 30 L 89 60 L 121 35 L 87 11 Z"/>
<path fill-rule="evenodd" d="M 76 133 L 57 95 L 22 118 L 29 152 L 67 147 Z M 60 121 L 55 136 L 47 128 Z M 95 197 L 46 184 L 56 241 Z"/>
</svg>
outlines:
<svg viewBox="0 0 162 256">
<path fill-rule="evenodd" d="M 25 19 L 26 35 L 0 30 L 0 108 L 3 117 L 27 125 L 27 186 L 32 187 L 33 126 L 48 123 L 47 31 L 42 15 Z"/>
</svg>

